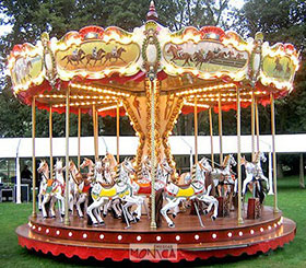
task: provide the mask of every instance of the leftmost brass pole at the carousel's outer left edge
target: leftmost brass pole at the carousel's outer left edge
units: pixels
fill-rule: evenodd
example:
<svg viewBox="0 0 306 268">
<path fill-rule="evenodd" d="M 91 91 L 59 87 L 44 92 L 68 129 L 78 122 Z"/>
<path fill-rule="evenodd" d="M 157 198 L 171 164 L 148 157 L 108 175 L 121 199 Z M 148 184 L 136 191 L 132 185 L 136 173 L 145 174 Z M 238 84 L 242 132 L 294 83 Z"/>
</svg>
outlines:
<svg viewBox="0 0 306 268">
<path fill-rule="evenodd" d="M 32 188 L 33 188 L 33 211 L 32 217 L 36 218 L 36 158 L 35 158 L 35 133 L 36 133 L 36 109 L 35 96 L 32 100 Z"/>
</svg>

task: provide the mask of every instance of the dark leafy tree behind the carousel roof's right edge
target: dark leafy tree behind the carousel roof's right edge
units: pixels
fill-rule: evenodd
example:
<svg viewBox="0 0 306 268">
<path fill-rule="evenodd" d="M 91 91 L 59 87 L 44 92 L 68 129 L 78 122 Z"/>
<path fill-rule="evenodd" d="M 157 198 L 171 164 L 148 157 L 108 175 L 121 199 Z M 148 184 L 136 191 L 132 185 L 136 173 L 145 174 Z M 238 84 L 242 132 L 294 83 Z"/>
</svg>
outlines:
<svg viewBox="0 0 306 268">
<path fill-rule="evenodd" d="M 304 0 L 249 0 L 235 12 L 234 26 L 239 33 L 255 36 L 262 32 L 270 44 L 292 43 L 301 53 L 301 68 L 296 74 L 295 90 L 275 102 L 276 132 L 306 131 L 306 2 Z M 260 107 L 261 130 L 270 132 L 270 107 Z"/>
</svg>

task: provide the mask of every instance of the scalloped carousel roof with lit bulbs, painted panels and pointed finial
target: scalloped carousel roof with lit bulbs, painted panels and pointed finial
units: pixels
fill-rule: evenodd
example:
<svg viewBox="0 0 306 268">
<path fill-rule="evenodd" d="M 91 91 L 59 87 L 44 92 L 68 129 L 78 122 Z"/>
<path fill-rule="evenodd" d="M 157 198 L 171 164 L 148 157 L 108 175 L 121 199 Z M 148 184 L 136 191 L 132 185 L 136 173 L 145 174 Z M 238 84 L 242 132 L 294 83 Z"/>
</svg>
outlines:
<svg viewBox="0 0 306 268">
<path fill-rule="evenodd" d="M 170 32 L 156 19 L 151 5 L 146 23 L 132 33 L 86 26 L 61 39 L 44 33 L 36 45 L 14 46 L 8 67 L 15 95 L 62 113 L 69 86 L 71 112 L 95 104 L 105 115 L 126 97 L 145 95 L 146 77 L 161 81 L 161 95 L 183 98 L 185 112 L 195 98 L 199 110 L 217 107 L 219 96 L 224 109 L 234 108 L 237 88 L 243 107 L 252 92 L 264 104 L 270 92 L 280 97 L 292 91 L 298 69 L 293 45 L 270 46 L 261 33 L 245 40 L 215 26 Z"/>
</svg>

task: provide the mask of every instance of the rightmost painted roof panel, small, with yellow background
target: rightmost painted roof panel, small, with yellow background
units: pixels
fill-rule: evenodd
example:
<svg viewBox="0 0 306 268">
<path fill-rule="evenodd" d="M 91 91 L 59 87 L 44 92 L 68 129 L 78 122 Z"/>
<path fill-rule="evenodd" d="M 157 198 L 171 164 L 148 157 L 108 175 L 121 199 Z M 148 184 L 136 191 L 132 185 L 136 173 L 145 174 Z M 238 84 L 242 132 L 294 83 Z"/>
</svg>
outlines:
<svg viewBox="0 0 306 268">
<path fill-rule="evenodd" d="M 290 81 L 295 72 L 295 66 L 289 57 L 266 56 L 262 61 L 264 75 L 274 78 L 279 82 Z"/>
</svg>

